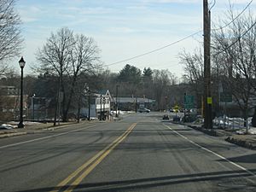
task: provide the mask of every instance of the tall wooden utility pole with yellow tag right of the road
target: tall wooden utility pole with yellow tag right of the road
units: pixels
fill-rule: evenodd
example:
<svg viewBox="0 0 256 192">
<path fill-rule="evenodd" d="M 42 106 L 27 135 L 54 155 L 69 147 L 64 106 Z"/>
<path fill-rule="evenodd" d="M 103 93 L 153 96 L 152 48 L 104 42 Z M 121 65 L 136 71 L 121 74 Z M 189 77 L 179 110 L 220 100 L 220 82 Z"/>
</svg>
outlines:
<svg viewBox="0 0 256 192">
<path fill-rule="evenodd" d="M 212 93 L 211 93 L 211 12 L 208 1 L 203 0 L 204 21 L 204 127 L 212 129 Z"/>
</svg>

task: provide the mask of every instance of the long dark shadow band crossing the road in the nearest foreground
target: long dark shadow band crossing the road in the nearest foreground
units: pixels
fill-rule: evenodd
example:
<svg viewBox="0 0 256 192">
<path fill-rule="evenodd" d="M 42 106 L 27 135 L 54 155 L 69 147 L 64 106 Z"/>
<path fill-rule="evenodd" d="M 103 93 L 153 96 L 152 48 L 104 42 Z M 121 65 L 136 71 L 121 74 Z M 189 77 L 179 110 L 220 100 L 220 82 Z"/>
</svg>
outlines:
<svg viewBox="0 0 256 192">
<path fill-rule="evenodd" d="M 256 172 L 256 170 L 250 170 L 251 172 Z M 241 177 L 249 177 L 251 176 L 249 173 L 244 171 L 226 171 L 226 172 L 202 172 L 195 174 L 182 174 L 182 175 L 170 175 L 166 177 L 146 177 L 146 178 L 138 178 L 131 180 L 120 180 L 120 181 L 111 181 L 111 182 L 96 182 L 96 183 L 85 183 L 79 185 L 66 185 L 57 188 L 57 190 L 65 190 L 67 188 L 73 188 L 74 190 L 79 191 L 98 191 L 98 192 L 114 192 L 114 191 L 125 191 L 125 190 L 138 190 L 138 189 L 154 189 L 160 186 L 167 185 L 177 185 L 177 184 L 189 184 L 189 183 L 198 183 L 200 186 L 200 182 L 222 182 L 225 183 L 225 179 L 240 179 Z M 189 184 L 190 185 L 190 184 Z M 252 183 L 243 183 L 243 185 L 232 185 L 232 184 L 223 184 L 225 191 L 229 191 L 231 189 L 239 189 L 242 188 L 242 191 L 255 191 L 256 185 Z M 188 186 L 187 186 L 188 187 Z M 214 187 L 214 185 L 212 185 Z M 215 187 L 223 189 L 223 187 L 219 184 L 216 184 Z M 52 189 L 56 189 L 54 187 L 44 188 L 44 189 L 31 189 L 31 190 L 22 190 L 19 192 L 46 192 Z M 211 189 L 210 189 L 211 190 Z M 239 190 L 240 191 L 240 190 Z"/>
</svg>

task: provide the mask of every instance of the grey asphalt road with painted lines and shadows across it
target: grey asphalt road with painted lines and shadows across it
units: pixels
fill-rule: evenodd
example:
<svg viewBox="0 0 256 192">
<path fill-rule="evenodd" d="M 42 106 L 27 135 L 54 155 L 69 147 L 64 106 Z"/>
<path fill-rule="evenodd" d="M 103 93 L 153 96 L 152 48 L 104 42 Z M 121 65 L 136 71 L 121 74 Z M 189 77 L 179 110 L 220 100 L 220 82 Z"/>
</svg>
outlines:
<svg viewBox="0 0 256 192">
<path fill-rule="evenodd" d="M 256 191 L 256 154 L 161 113 L 0 140 L 0 191 Z"/>
</svg>

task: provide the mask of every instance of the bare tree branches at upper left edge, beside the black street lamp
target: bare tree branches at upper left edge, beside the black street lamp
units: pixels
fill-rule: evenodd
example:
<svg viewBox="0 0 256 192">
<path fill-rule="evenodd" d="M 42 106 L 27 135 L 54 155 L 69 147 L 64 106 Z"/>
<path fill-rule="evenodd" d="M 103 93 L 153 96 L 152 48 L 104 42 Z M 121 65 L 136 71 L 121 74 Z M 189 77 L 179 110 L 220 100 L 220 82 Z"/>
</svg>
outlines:
<svg viewBox="0 0 256 192">
<path fill-rule="evenodd" d="M 15 0 L 0 1 L 0 75 L 8 70 L 4 61 L 20 54 L 20 16 L 15 12 Z"/>
</svg>

